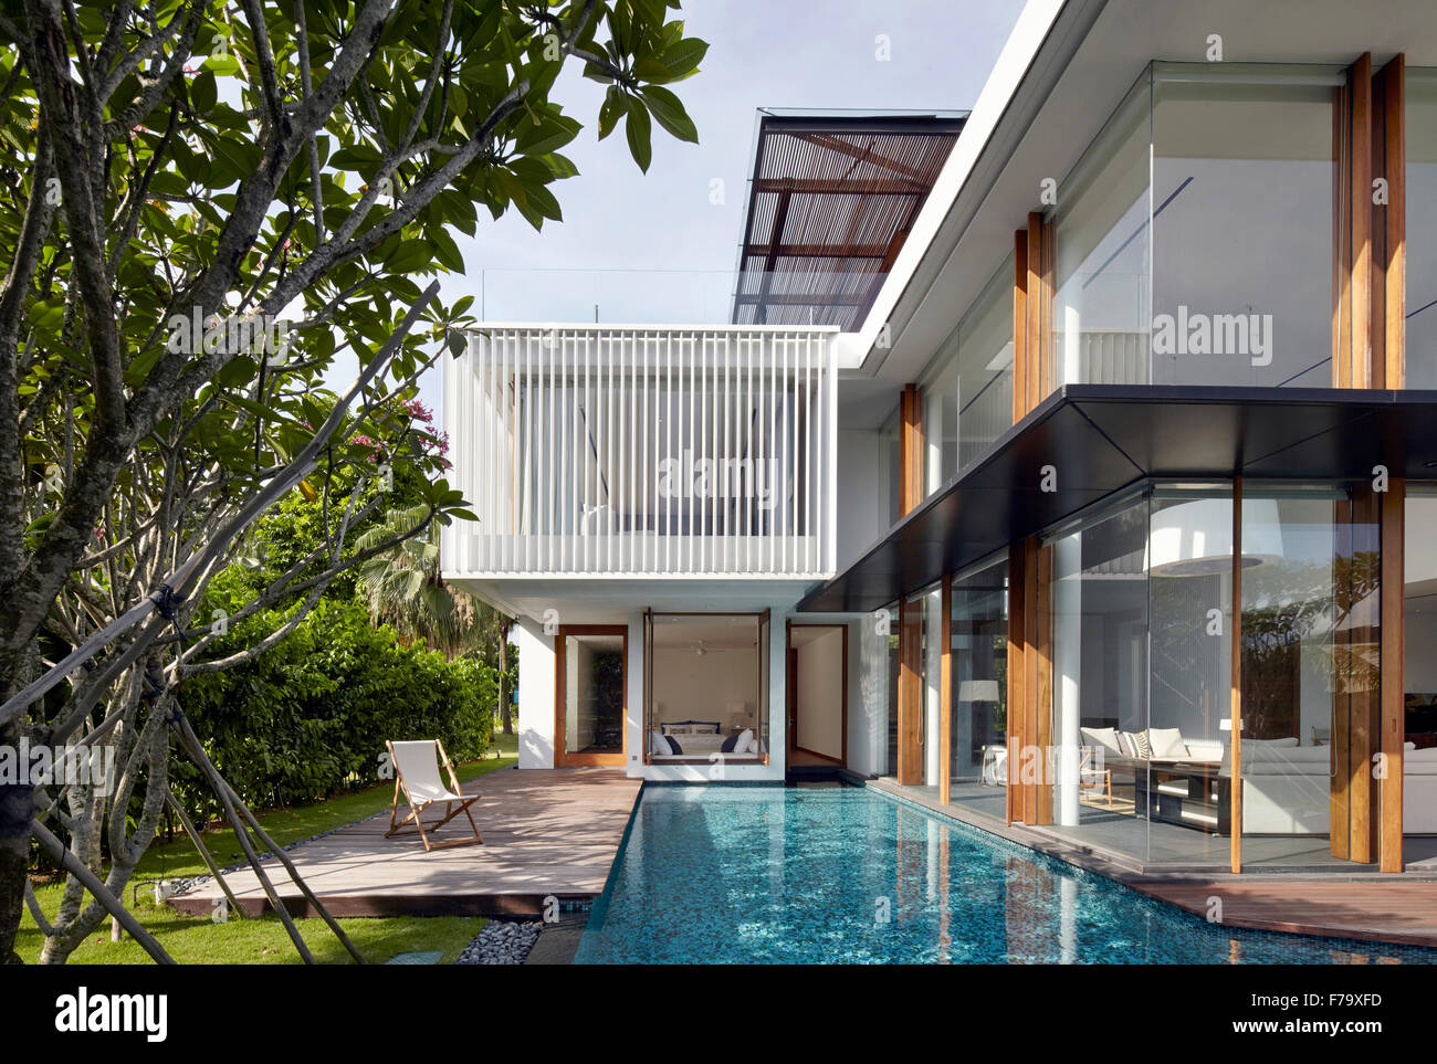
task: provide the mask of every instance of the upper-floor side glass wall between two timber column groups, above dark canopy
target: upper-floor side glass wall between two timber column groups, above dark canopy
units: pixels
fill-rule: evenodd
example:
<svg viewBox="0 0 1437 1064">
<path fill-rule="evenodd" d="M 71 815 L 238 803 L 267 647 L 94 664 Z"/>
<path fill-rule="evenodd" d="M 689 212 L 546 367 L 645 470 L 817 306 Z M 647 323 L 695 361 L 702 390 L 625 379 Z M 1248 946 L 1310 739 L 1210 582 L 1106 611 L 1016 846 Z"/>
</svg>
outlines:
<svg viewBox="0 0 1437 1064">
<path fill-rule="evenodd" d="M 1013 257 L 989 279 L 923 379 L 927 491 L 1013 426 Z"/>
</svg>

